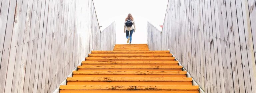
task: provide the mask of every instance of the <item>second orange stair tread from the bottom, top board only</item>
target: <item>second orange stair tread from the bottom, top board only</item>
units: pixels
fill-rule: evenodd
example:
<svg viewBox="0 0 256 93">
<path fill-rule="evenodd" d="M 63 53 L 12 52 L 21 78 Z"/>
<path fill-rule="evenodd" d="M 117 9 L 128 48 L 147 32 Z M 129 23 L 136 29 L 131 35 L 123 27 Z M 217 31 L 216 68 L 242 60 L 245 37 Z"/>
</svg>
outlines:
<svg viewBox="0 0 256 93">
<path fill-rule="evenodd" d="M 190 77 L 68 77 L 67 81 L 192 81 Z"/>
</svg>

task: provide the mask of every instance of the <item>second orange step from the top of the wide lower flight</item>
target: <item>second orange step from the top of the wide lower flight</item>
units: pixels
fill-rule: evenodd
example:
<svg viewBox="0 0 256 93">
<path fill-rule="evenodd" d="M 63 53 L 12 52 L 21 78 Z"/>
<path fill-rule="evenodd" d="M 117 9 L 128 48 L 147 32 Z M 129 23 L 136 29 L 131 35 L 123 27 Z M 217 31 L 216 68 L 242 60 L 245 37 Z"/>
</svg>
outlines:
<svg viewBox="0 0 256 93">
<path fill-rule="evenodd" d="M 172 56 L 171 53 L 91 53 L 89 56 Z"/>
</svg>

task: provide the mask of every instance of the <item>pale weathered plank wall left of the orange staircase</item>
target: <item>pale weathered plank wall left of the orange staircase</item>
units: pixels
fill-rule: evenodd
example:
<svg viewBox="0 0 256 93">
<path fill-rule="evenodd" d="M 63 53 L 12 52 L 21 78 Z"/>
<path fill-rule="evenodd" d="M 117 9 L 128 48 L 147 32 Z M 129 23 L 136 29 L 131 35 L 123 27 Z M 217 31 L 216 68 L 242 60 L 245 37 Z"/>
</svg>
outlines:
<svg viewBox="0 0 256 93">
<path fill-rule="evenodd" d="M 52 93 L 92 49 L 115 45 L 92 0 L 0 2 L 0 93 Z"/>
</svg>

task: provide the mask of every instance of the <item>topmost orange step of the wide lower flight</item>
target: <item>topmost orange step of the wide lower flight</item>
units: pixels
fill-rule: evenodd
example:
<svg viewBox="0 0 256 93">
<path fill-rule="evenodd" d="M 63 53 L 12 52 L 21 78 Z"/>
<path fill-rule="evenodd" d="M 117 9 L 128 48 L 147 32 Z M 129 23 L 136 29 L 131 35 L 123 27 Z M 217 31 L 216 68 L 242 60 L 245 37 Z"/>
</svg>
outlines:
<svg viewBox="0 0 256 93">
<path fill-rule="evenodd" d="M 91 51 L 91 53 L 170 53 L 170 51 L 123 50 L 123 51 Z"/>
</svg>

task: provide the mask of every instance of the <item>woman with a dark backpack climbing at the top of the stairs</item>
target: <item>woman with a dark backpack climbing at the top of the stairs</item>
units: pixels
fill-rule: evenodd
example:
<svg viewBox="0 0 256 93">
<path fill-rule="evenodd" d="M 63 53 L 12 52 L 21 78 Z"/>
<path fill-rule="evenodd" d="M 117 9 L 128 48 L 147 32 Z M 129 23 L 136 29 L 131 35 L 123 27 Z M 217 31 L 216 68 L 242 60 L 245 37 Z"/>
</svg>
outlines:
<svg viewBox="0 0 256 93">
<path fill-rule="evenodd" d="M 124 23 L 124 33 L 126 33 L 126 39 L 127 43 L 132 43 L 132 33 L 135 32 L 135 22 L 133 20 L 133 17 L 131 14 L 128 14 L 128 16 L 125 19 Z M 129 35 L 130 33 L 130 35 Z"/>
</svg>

